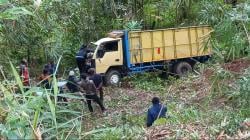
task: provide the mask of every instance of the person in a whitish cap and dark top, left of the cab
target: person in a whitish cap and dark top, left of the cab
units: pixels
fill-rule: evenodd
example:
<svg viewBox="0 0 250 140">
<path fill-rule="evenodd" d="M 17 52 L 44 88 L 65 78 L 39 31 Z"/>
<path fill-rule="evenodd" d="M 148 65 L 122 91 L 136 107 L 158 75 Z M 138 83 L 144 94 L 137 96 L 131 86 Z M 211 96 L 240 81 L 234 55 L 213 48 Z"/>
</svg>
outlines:
<svg viewBox="0 0 250 140">
<path fill-rule="evenodd" d="M 74 92 L 78 91 L 77 82 L 78 82 L 78 80 L 77 80 L 77 78 L 75 76 L 75 72 L 70 71 L 66 86 L 67 86 L 67 88 L 69 89 L 69 91 L 71 93 L 74 93 Z"/>
</svg>

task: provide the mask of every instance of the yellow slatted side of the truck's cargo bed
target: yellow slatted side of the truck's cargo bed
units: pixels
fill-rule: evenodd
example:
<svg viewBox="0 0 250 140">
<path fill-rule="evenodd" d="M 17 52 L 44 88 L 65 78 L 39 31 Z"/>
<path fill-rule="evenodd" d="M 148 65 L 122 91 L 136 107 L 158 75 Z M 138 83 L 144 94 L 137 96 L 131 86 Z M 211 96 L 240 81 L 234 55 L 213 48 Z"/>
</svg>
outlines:
<svg viewBox="0 0 250 140">
<path fill-rule="evenodd" d="M 131 64 L 211 55 L 211 32 L 209 26 L 131 31 Z"/>
</svg>

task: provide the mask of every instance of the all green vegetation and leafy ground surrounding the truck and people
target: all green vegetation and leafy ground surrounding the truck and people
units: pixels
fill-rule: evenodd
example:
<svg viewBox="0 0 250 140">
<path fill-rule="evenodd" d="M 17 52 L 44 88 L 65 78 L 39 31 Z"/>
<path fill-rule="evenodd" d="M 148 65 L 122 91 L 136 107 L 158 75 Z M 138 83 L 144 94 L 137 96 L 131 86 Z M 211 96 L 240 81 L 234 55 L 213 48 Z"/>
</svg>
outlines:
<svg viewBox="0 0 250 140">
<path fill-rule="evenodd" d="M 0 139 L 243 139 L 250 129 L 249 18 L 249 0 L 236 8 L 219 0 L 0 0 Z M 55 86 L 45 90 L 34 82 L 27 91 L 15 69 L 28 58 L 35 77 L 54 59 L 63 75 L 75 67 L 81 43 L 108 31 L 200 24 L 214 29 L 209 63 L 182 78 L 152 72 L 106 87 L 106 115 L 97 107 L 89 114 L 82 96 L 58 94 Z M 147 129 L 153 96 L 168 106 L 168 119 Z"/>
</svg>

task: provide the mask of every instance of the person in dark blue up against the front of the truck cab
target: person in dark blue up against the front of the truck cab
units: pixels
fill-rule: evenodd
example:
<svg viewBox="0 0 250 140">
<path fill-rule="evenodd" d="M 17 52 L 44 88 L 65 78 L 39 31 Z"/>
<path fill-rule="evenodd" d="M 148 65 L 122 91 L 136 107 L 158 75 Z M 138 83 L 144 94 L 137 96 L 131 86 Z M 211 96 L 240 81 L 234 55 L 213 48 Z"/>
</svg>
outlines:
<svg viewBox="0 0 250 140">
<path fill-rule="evenodd" d="M 80 74 L 85 70 L 85 60 L 87 55 L 87 45 L 82 45 L 79 51 L 76 53 L 76 63 L 79 68 Z"/>
</svg>

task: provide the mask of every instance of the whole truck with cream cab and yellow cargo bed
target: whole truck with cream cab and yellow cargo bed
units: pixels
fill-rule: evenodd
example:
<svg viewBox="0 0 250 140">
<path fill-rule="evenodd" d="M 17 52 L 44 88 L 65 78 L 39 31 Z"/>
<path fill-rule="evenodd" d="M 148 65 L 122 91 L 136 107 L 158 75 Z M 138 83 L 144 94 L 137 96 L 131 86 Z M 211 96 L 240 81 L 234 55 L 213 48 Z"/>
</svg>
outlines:
<svg viewBox="0 0 250 140">
<path fill-rule="evenodd" d="M 107 85 L 121 78 L 153 70 L 183 76 L 196 62 L 212 55 L 209 26 L 190 26 L 157 30 L 116 30 L 91 43 L 95 48 L 91 67 L 101 74 Z"/>
</svg>

